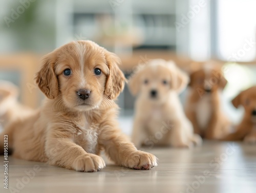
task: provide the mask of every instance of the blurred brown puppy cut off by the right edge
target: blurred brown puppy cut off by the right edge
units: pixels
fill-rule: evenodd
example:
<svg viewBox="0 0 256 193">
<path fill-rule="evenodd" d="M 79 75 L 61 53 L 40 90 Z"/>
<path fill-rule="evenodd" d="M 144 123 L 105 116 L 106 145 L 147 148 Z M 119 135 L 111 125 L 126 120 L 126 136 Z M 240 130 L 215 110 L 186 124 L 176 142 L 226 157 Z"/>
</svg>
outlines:
<svg viewBox="0 0 256 193">
<path fill-rule="evenodd" d="M 242 91 L 232 100 L 235 108 L 244 108 L 244 117 L 236 132 L 229 134 L 223 140 L 244 140 L 246 143 L 256 143 L 256 87 Z"/>
</svg>

